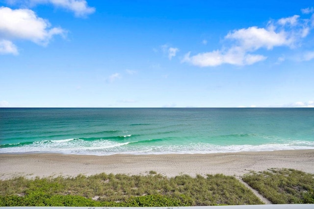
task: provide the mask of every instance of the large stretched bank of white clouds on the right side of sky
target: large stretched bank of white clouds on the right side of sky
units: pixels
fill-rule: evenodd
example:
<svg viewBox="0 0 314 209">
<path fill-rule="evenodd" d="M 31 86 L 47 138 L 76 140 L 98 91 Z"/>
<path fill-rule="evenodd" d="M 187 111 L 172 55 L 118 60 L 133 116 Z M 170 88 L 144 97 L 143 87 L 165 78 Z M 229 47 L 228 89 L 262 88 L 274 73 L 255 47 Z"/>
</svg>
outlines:
<svg viewBox="0 0 314 209">
<path fill-rule="evenodd" d="M 310 13 L 312 9 L 303 12 Z M 256 53 L 259 49 L 271 50 L 278 46 L 290 48 L 298 46 L 310 33 L 313 23 L 313 20 L 301 20 L 299 15 L 294 15 L 278 21 L 269 21 L 266 27 L 252 26 L 234 30 L 224 37 L 224 42 L 229 46 L 195 55 L 188 52 L 182 62 L 199 67 L 214 67 L 222 64 L 252 65 L 267 59 L 266 56 Z"/>
</svg>

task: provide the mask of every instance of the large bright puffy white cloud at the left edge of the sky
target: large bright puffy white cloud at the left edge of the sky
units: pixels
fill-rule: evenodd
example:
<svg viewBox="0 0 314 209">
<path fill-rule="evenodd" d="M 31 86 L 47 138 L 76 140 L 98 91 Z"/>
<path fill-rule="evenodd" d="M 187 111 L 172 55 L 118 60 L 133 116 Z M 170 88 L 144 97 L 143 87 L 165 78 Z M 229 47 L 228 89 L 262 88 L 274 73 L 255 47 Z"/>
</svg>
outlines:
<svg viewBox="0 0 314 209">
<path fill-rule="evenodd" d="M 5 40 L 24 39 L 47 46 L 54 35 L 64 36 L 66 33 L 60 27 L 50 28 L 47 20 L 37 17 L 29 9 L 0 7 L 0 20 L 0 38 Z"/>
</svg>

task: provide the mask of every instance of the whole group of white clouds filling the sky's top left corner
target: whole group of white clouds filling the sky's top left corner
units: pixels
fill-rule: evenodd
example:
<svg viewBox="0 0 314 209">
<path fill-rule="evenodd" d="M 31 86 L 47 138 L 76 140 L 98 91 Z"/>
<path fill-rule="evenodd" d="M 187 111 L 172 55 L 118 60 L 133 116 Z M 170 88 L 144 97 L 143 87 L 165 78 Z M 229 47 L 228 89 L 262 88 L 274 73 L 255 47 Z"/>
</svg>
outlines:
<svg viewBox="0 0 314 209">
<path fill-rule="evenodd" d="M 22 9 L 0 7 L 0 54 L 18 55 L 14 40 L 27 40 L 41 46 L 47 46 L 53 36 L 65 37 L 67 31 L 61 27 L 52 27 L 48 20 L 40 18 L 29 7 L 38 4 L 52 4 L 74 12 L 77 17 L 85 17 L 95 12 L 86 0 L 6 0 L 10 5 L 20 5 Z"/>
</svg>

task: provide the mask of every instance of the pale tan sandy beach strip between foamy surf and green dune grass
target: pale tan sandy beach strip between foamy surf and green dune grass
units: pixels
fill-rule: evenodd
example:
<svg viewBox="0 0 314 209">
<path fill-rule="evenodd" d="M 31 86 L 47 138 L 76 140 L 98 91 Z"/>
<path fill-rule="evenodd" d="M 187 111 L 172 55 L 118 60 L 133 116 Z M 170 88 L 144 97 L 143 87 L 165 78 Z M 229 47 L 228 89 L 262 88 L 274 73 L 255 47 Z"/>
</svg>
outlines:
<svg viewBox="0 0 314 209">
<path fill-rule="evenodd" d="M 172 177 L 180 174 L 241 176 L 250 170 L 293 168 L 314 173 L 314 150 L 285 150 L 217 154 L 111 155 L 1 154 L 0 179 L 123 173 L 145 175 L 154 170 Z"/>
</svg>

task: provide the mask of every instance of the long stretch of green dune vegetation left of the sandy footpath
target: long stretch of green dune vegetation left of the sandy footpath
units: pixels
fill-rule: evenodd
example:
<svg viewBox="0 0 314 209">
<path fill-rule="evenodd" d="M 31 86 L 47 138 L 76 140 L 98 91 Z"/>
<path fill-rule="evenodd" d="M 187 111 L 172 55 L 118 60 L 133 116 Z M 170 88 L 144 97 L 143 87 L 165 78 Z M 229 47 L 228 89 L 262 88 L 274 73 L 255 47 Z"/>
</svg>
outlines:
<svg viewBox="0 0 314 209">
<path fill-rule="evenodd" d="M 0 181 L 0 206 L 205 206 L 262 204 L 235 177 L 222 174 L 168 178 L 124 174 L 75 178 L 17 177 Z M 94 200 L 93 200 L 94 199 Z"/>
</svg>

